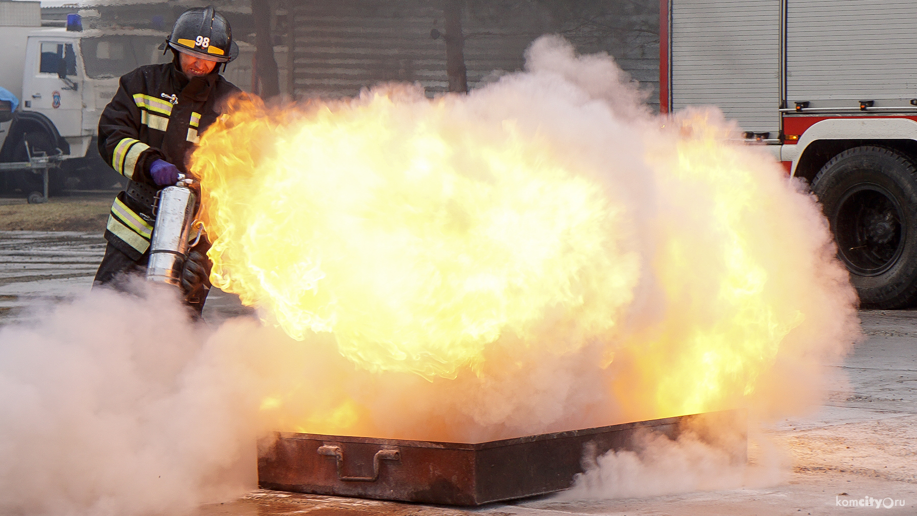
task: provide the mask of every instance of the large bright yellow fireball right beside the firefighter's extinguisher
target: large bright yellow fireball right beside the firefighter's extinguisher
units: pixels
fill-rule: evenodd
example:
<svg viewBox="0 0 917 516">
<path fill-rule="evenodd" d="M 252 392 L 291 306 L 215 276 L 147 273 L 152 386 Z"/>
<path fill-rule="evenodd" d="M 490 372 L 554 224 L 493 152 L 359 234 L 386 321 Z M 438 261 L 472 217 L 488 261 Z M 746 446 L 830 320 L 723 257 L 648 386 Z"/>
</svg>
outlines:
<svg viewBox="0 0 917 516">
<path fill-rule="evenodd" d="M 214 285 L 293 338 L 332 332 L 362 368 L 426 378 L 477 367 L 506 333 L 580 346 L 540 342 L 547 313 L 607 332 L 638 274 L 609 231 L 620 209 L 563 149 L 511 122 L 470 133 L 450 102 L 377 93 L 285 126 L 218 122 L 193 162 Z"/>
</svg>

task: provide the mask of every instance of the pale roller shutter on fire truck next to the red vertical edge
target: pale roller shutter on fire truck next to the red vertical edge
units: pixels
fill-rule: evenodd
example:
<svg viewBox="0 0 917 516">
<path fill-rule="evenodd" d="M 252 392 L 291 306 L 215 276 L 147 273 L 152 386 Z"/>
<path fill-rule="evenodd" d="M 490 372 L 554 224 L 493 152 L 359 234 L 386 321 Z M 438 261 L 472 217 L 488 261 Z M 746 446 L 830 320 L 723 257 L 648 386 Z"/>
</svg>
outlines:
<svg viewBox="0 0 917 516">
<path fill-rule="evenodd" d="M 672 0 L 672 108 L 714 104 L 779 132 L 779 0 Z"/>
</svg>

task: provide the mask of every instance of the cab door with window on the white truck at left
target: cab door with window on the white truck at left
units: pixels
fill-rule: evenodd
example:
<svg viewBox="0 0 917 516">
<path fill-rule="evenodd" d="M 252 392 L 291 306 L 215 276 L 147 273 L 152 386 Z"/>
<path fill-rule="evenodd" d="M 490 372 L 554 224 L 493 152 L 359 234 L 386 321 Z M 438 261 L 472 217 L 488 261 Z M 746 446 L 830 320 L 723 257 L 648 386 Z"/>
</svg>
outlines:
<svg viewBox="0 0 917 516">
<path fill-rule="evenodd" d="M 72 39 L 30 38 L 28 52 L 22 84 L 25 108 L 48 116 L 61 137 L 80 136 L 83 95 L 79 88 L 83 73 L 76 57 L 75 42 Z"/>
</svg>

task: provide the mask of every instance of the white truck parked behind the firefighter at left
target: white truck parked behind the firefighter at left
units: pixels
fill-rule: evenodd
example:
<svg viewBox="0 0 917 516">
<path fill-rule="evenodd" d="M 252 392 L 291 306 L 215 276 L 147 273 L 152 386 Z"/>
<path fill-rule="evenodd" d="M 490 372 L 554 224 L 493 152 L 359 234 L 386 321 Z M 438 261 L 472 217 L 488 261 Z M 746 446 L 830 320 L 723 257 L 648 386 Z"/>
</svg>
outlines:
<svg viewBox="0 0 917 516">
<path fill-rule="evenodd" d="M 70 16 L 67 27 L 42 27 L 39 2 L 0 0 L 0 87 L 19 100 L 16 110 L 0 101 L 0 188 L 7 192 L 44 190 L 47 197 L 48 185 L 36 173 L 42 158 L 61 165 L 51 172 L 51 192 L 67 182 L 109 186 L 92 184 L 101 164 L 99 115 L 118 77 L 171 60 L 157 49 L 164 32 L 83 30 L 80 21 Z"/>
</svg>

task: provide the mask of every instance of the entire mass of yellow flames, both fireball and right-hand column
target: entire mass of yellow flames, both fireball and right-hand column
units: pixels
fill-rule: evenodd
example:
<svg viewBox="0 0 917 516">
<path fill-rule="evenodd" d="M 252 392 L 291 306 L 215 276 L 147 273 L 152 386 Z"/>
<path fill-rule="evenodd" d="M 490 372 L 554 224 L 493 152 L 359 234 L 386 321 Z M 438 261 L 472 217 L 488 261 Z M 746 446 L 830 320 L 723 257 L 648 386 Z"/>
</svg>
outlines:
<svg viewBox="0 0 917 516">
<path fill-rule="evenodd" d="M 557 428 L 567 416 L 541 401 L 516 409 L 569 404 L 572 387 L 503 387 L 553 361 L 579 364 L 570 385 L 600 379 L 604 401 L 582 402 L 591 425 L 717 410 L 827 324 L 800 329 L 842 278 L 824 228 L 801 225 L 817 208 L 705 115 L 635 124 L 628 165 L 465 99 L 382 88 L 287 109 L 239 100 L 202 137 L 191 169 L 214 285 L 294 339 L 334 335 L 369 371 L 357 398 L 337 386 L 289 429 L 378 429 L 367 385 L 405 372 L 430 381 L 411 388 L 428 398 L 417 406 L 463 398 L 483 407 L 469 412 L 478 424 L 530 415 L 517 426 Z"/>
</svg>

